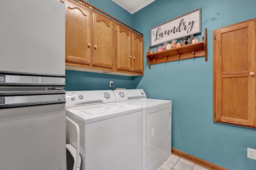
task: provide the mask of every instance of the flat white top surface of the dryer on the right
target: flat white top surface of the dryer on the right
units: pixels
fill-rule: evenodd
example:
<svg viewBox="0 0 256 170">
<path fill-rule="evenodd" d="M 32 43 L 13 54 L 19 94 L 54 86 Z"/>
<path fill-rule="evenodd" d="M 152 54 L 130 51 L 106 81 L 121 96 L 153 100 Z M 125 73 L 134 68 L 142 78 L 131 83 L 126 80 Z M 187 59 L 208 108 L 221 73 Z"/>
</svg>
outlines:
<svg viewBox="0 0 256 170">
<path fill-rule="evenodd" d="M 172 101 L 171 100 L 158 100 L 158 99 L 143 98 L 143 99 L 139 99 L 139 100 L 124 101 L 124 102 L 120 102 L 120 103 L 132 105 L 132 106 L 143 107 L 143 109 L 146 110 L 146 109 L 151 109 L 151 108 L 158 107 L 158 106 L 163 106 L 166 104 L 171 104 Z"/>
</svg>

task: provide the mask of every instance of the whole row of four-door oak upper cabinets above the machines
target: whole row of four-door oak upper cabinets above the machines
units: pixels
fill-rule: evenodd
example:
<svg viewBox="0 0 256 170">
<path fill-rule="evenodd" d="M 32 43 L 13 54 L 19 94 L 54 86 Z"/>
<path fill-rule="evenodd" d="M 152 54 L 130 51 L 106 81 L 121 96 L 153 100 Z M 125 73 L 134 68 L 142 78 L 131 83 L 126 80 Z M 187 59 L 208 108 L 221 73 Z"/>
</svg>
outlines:
<svg viewBox="0 0 256 170">
<path fill-rule="evenodd" d="M 143 37 L 107 16 L 85 2 L 66 0 L 66 69 L 143 75 Z"/>
</svg>

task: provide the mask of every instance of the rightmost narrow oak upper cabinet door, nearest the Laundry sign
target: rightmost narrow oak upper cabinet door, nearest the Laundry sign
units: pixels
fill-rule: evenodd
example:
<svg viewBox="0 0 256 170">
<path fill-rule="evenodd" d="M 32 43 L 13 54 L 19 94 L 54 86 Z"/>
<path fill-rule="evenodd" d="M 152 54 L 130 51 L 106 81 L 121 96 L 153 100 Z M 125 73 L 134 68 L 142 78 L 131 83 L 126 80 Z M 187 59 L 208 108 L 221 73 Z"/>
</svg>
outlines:
<svg viewBox="0 0 256 170">
<path fill-rule="evenodd" d="M 144 70 L 144 39 L 132 33 L 132 71 L 143 73 Z"/>
</svg>

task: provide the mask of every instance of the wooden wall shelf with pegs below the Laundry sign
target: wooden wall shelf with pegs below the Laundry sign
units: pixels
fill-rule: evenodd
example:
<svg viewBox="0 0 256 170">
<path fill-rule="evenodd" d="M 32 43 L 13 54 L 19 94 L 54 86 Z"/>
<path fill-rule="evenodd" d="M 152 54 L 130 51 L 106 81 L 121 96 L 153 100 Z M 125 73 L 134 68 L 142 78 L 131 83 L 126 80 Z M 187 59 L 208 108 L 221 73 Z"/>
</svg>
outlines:
<svg viewBox="0 0 256 170">
<path fill-rule="evenodd" d="M 148 47 L 148 51 L 150 51 L 150 46 Z M 147 53 L 146 57 L 149 68 L 151 68 L 152 64 L 191 59 L 195 57 L 205 57 L 205 61 L 207 61 L 207 28 L 204 29 L 204 41 L 152 54 Z"/>
</svg>

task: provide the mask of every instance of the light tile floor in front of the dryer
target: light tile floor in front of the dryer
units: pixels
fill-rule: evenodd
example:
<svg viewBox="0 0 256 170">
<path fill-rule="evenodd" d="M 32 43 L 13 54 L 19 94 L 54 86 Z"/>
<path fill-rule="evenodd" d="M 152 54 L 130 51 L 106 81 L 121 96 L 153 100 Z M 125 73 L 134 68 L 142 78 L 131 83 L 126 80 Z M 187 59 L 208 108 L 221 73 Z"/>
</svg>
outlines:
<svg viewBox="0 0 256 170">
<path fill-rule="evenodd" d="M 184 158 L 171 154 L 156 170 L 209 170 Z"/>
</svg>

